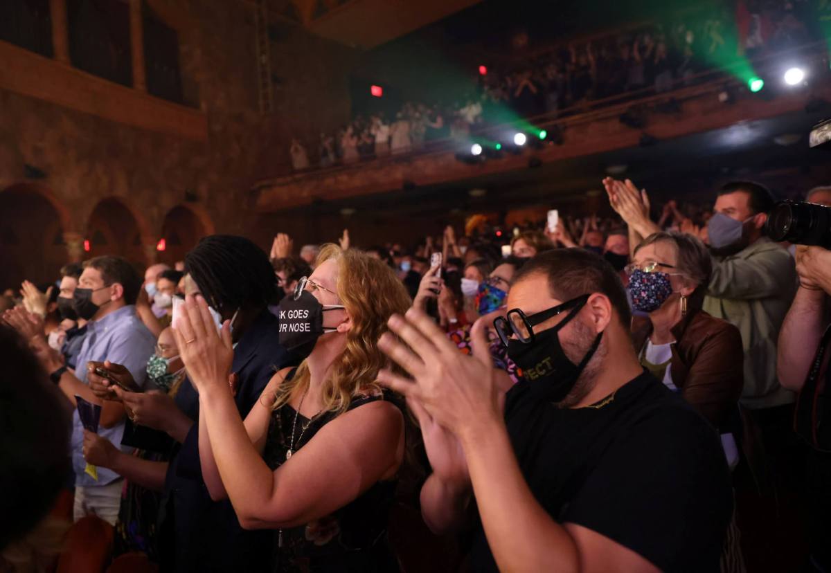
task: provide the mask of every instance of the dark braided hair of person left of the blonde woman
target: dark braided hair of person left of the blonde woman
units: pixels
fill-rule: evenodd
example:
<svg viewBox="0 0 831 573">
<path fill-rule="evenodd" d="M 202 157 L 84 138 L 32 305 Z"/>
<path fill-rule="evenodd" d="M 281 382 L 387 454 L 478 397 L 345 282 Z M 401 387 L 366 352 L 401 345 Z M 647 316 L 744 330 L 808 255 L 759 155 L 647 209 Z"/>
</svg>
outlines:
<svg viewBox="0 0 831 573">
<path fill-rule="evenodd" d="M 277 294 L 277 278 L 265 252 L 247 238 L 210 235 L 184 257 L 184 270 L 217 311 L 266 306 Z"/>
</svg>

